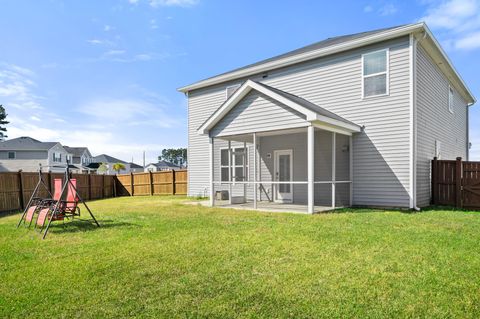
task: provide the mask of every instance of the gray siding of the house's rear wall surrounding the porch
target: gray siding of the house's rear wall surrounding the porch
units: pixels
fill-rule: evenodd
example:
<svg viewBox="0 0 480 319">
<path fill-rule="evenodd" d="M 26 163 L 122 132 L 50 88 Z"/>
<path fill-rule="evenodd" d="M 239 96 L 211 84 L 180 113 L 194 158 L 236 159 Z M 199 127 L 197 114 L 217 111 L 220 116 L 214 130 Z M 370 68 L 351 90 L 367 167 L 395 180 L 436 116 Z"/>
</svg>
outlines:
<svg viewBox="0 0 480 319">
<path fill-rule="evenodd" d="M 362 99 L 362 53 L 389 48 L 390 95 Z M 356 124 L 354 205 L 409 206 L 409 39 L 319 58 L 250 77 L 298 95 Z M 198 127 L 225 101 L 225 88 L 245 79 L 189 92 L 189 195 L 208 194 L 208 137 Z"/>
</svg>

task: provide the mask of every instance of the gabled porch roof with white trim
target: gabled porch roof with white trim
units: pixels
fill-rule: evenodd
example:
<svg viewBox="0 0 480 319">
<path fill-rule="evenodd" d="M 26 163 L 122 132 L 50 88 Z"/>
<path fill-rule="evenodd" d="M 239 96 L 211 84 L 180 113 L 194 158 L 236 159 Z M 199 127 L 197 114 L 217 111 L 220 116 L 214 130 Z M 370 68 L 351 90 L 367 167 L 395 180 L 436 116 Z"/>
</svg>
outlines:
<svg viewBox="0 0 480 319">
<path fill-rule="evenodd" d="M 273 88 L 263 83 L 247 80 L 232 94 L 198 129 L 199 134 L 208 132 L 220 122 L 251 90 L 269 96 L 270 98 L 292 108 L 305 115 L 309 122 L 321 122 L 328 126 L 337 127 L 346 132 L 360 132 L 361 126 L 350 122 L 343 117 L 330 112 L 314 103 L 311 103 L 299 96 Z"/>
</svg>

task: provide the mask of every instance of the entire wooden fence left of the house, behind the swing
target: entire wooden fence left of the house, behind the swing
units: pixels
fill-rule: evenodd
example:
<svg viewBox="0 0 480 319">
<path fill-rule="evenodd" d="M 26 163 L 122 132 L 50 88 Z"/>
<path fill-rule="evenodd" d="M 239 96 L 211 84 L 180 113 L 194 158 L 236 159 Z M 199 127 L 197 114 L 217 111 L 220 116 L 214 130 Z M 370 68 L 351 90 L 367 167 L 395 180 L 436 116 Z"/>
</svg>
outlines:
<svg viewBox="0 0 480 319">
<path fill-rule="evenodd" d="M 53 193 L 56 178 L 62 173 L 43 173 L 48 190 Z M 84 200 L 117 196 L 186 195 L 187 171 L 161 171 L 122 175 L 72 174 L 77 179 L 77 190 Z M 38 173 L 0 173 L 0 212 L 24 209 L 38 182 Z M 48 197 L 41 188 L 39 197 Z"/>
</svg>

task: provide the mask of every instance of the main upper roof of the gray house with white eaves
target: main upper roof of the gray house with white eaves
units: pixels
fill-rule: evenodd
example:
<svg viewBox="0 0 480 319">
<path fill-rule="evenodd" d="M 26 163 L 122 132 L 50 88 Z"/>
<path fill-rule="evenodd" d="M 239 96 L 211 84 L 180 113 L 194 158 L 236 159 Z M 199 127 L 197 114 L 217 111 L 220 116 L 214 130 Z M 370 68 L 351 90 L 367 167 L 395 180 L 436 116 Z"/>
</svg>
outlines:
<svg viewBox="0 0 480 319">
<path fill-rule="evenodd" d="M 467 87 L 462 77 L 457 72 L 452 62 L 446 55 L 445 51 L 442 49 L 430 29 L 424 22 L 328 38 L 326 40 L 302 47 L 300 49 L 296 49 L 266 60 L 262 60 L 260 62 L 256 62 L 226 73 L 222 73 L 195 82 L 193 84 L 179 88 L 178 91 L 187 93 L 189 91 L 200 89 L 203 87 L 236 79 L 246 78 L 253 75 L 258 75 L 274 69 L 398 38 L 401 36 L 407 36 L 410 34 L 423 34 L 425 38 L 428 38 L 429 42 L 431 43 L 427 47 L 427 51 L 429 53 L 432 53 L 432 55 L 436 57 L 436 59 L 438 60 L 438 62 L 436 61 L 436 63 L 439 65 L 442 71 L 445 72 L 453 81 L 457 82 L 457 86 L 461 89 L 461 93 L 465 97 L 467 102 L 470 105 L 475 103 L 476 100 L 472 92 Z"/>
</svg>

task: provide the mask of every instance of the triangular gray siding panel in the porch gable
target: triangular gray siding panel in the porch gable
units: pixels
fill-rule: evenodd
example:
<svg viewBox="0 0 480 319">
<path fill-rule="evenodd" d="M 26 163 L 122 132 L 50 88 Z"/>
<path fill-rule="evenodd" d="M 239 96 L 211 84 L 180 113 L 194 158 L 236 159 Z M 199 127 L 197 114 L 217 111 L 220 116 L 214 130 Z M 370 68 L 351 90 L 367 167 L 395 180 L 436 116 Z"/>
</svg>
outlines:
<svg viewBox="0 0 480 319">
<path fill-rule="evenodd" d="M 210 131 L 210 136 L 228 136 L 308 125 L 304 115 L 252 90 L 215 125 Z"/>
</svg>

